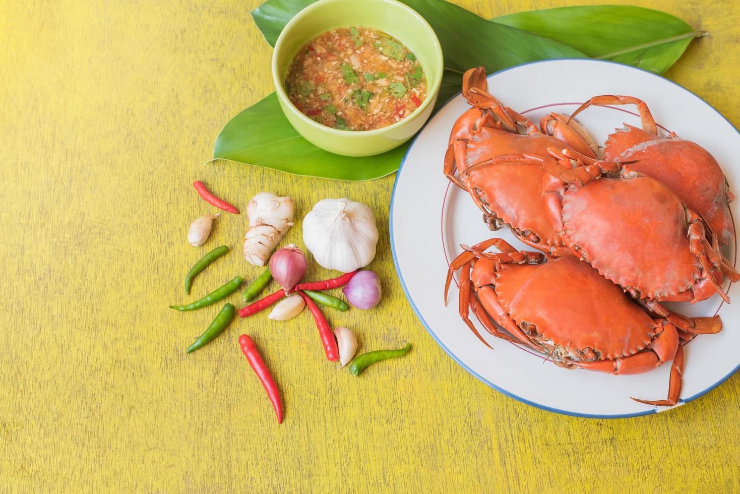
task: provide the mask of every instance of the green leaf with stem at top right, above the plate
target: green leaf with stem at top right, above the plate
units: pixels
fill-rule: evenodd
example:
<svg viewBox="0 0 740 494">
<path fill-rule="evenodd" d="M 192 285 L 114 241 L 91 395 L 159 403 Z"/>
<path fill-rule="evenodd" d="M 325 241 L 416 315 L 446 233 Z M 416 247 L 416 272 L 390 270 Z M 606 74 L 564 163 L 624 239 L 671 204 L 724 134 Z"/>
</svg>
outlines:
<svg viewBox="0 0 740 494">
<path fill-rule="evenodd" d="M 704 35 L 681 19 L 631 5 L 531 10 L 491 19 L 568 44 L 591 58 L 662 74 L 693 38 Z"/>
</svg>

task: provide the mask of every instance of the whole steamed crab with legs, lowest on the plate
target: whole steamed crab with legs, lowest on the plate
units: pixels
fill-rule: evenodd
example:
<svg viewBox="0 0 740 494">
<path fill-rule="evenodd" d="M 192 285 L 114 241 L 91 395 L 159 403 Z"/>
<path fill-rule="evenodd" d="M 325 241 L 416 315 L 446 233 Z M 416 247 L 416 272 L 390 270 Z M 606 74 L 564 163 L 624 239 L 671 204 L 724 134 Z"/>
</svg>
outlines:
<svg viewBox="0 0 740 494">
<path fill-rule="evenodd" d="M 501 254 L 485 253 L 491 246 Z M 468 319 L 470 310 L 489 333 L 545 353 L 562 367 L 633 374 L 672 362 L 667 398 L 633 398 L 637 402 L 676 405 L 684 362 L 681 341 L 721 330 L 719 317 L 688 319 L 659 304 L 653 304 L 659 313 L 641 308 L 576 257 L 517 251 L 495 238 L 463 248 L 450 265 L 445 302 L 453 272 L 462 269 L 460 316 L 482 341 Z"/>
</svg>

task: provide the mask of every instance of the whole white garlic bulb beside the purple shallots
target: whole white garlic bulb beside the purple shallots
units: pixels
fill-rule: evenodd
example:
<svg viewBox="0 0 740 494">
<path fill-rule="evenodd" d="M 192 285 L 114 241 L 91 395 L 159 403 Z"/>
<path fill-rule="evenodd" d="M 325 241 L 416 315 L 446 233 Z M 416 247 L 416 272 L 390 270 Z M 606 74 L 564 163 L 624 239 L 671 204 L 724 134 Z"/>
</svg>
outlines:
<svg viewBox="0 0 740 494">
<path fill-rule="evenodd" d="M 327 269 L 349 273 L 369 265 L 377 238 L 372 209 L 354 200 L 320 200 L 303 218 L 303 243 Z"/>
</svg>

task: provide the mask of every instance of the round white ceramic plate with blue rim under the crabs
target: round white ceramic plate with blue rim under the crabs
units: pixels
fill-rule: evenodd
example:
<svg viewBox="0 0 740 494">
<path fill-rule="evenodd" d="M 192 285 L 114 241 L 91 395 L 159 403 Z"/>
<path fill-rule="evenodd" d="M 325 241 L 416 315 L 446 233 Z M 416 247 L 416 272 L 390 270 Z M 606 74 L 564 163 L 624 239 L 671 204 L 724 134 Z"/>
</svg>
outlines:
<svg viewBox="0 0 740 494">
<path fill-rule="evenodd" d="M 740 134 L 701 98 L 658 75 L 606 61 L 539 61 L 489 75 L 488 90 L 534 122 L 547 112 L 570 115 L 594 95 L 636 96 L 647 102 L 664 132 L 676 132 L 708 149 L 727 175 L 730 189 L 740 191 L 740 164 L 736 158 Z M 394 185 L 391 248 L 396 270 L 417 316 L 463 368 L 520 402 L 558 413 L 600 418 L 667 410 L 633 402 L 629 397 L 664 399 L 670 365 L 635 376 L 568 370 L 552 362 L 543 365 L 544 356 L 489 335 L 471 317 L 494 351 L 485 348 L 460 320 L 454 285 L 448 305 L 443 305 L 448 261 L 460 253 L 461 243 L 473 245 L 498 236 L 517 248 L 531 250 L 506 229 L 489 231 L 470 196 L 451 186 L 443 175 L 451 126 L 469 107 L 458 94 L 427 122 L 411 143 Z M 639 126 L 633 106 L 591 107 L 579 115 L 579 121 L 602 143 L 622 122 Z M 733 213 L 739 202 L 732 203 Z M 724 248 L 723 252 L 728 259 L 735 259 L 735 246 Z M 717 295 L 695 305 L 672 307 L 680 307 L 689 316 L 719 311 L 724 322 L 721 333 L 698 336 L 685 347 L 679 403 L 683 405 L 715 388 L 740 368 L 740 294 L 732 305 L 722 304 Z"/>
</svg>

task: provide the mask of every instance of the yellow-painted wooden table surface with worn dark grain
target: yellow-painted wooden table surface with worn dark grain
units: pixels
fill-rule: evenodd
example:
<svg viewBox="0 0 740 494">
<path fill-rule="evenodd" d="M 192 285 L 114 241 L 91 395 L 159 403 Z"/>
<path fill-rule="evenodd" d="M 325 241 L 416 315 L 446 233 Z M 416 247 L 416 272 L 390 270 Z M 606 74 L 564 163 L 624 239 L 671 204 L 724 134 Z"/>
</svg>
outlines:
<svg viewBox="0 0 740 494">
<path fill-rule="evenodd" d="M 571 2 L 458 3 L 491 17 Z M 710 32 L 667 76 L 740 124 L 737 2 L 630 3 Z M 0 491 L 738 492 L 740 376 L 638 419 L 522 405 L 462 370 L 411 311 L 388 242 L 393 176 L 203 166 L 221 126 L 271 90 L 257 4 L 0 1 Z M 219 220 L 205 248 L 187 245 L 190 221 L 212 211 L 198 179 L 242 208 L 262 190 L 290 194 L 300 217 L 324 197 L 368 203 L 383 303 L 330 316 L 357 331 L 360 351 L 408 340 L 411 353 L 357 379 L 327 364 L 301 314 L 235 322 L 186 356 L 220 307 L 167 308 L 187 300 L 189 265 L 234 249 L 194 295 L 259 272 L 240 255 L 246 214 Z M 300 229 L 287 240 L 300 243 Z M 275 373 L 281 426 L 241 333 Z"/>
</svg>

